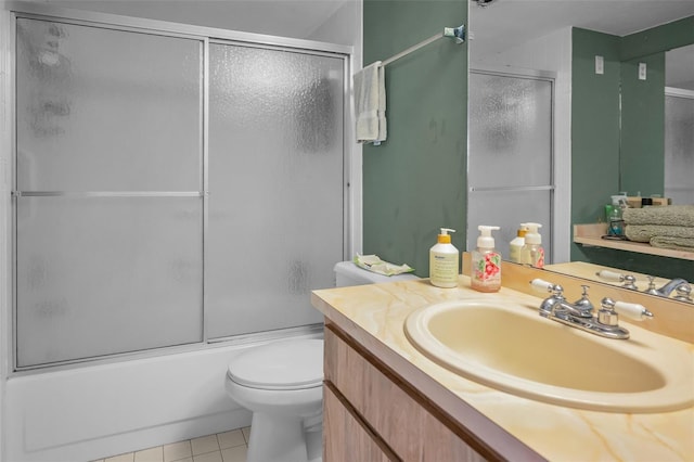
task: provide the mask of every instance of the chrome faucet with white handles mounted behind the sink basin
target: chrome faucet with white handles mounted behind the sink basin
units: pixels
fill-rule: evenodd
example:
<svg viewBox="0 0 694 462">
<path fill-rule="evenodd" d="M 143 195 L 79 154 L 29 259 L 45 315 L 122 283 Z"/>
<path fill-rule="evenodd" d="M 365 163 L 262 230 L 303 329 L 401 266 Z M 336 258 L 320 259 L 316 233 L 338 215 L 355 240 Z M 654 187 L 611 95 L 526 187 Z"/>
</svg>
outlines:
<svg viewBox="0 0 694 462">
<path fill-rule="evenodd" d="M 629 331 L 619 325 L 619 315 L 635 321 L 653 318 L 653 313 L 642 305 L 615 301 L 608 297 L 602 299 L 597 316 L 594 316 L 587 285 L 582 286 L 581 298 L 573 304 L 564 298 L 564 288 L 558 284 L 534 279 L 530 285 L 535 290 L 552 293 L 540 304 L 540 316 L 606 338 L 629 338 Z"/>
</svg>

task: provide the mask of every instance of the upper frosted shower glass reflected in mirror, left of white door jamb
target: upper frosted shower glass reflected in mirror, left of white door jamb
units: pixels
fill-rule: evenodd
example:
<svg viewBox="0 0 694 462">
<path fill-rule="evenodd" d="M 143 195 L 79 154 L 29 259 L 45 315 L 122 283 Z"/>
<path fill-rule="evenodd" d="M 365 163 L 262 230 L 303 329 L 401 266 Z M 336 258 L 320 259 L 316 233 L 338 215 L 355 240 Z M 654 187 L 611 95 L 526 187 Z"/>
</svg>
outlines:
<svg viewBox="0 0 694 462">
<path fill-rule="evenodd" d="M 470 187 L 552 182 L 552 84 L 470 75 Z"/>
</svg>

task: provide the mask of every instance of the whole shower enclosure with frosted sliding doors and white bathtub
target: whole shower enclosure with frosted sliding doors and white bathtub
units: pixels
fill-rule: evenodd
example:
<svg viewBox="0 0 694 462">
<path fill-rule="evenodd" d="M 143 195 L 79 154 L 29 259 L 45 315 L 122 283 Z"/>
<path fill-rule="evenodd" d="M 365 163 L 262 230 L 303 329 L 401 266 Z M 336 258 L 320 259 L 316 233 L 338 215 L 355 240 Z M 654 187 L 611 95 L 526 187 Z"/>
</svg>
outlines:
<svg viewBox="0 0 694 462">
<path fill-rule="evenodd" d="M 352 48 L 11 2 L 0 50 L 0 459 L 249 425 L 229 362 L 350 251 Z"/>
</svg>

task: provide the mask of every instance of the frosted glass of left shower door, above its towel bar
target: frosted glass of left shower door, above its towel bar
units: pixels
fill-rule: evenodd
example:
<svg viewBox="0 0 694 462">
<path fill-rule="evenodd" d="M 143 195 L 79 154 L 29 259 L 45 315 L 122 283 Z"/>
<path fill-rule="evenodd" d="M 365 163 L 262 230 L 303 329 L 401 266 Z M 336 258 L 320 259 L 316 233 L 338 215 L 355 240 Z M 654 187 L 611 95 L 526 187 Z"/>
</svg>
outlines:
<svg viewBox="0 0 694 462">
<path fill-rule="evenodd" d="M 202 42 L 17 20 L 17 189 L 200 191 Z"/>
</svg>

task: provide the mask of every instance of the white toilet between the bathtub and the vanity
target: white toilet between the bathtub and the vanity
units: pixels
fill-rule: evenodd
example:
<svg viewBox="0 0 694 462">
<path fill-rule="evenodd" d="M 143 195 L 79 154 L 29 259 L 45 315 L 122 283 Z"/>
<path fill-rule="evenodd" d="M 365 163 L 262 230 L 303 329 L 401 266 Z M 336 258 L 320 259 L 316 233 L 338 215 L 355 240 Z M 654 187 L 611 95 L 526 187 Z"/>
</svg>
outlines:
<svg viewBox="0 0 694 462">
<path fill-rule="evenodd" d="M 334 270 L 338 287 L 417 279 L 376 274 L 351 261 Z M 253 412 L 247 462 L 322 460 L 322 338 L 275 341 L 241 352 L 229 363 L 226 388 Z"/>
</svg>

